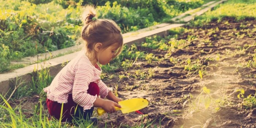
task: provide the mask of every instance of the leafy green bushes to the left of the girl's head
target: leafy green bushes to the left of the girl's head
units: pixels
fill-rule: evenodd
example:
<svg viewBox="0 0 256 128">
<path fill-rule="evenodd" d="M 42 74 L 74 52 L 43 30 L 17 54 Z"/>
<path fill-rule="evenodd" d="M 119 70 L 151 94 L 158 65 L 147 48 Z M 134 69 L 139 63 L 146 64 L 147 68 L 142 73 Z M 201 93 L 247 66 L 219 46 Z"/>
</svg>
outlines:
<svg viewBox="0 0 256 128">
<path fill-rule="evenodd" d="M 0 45 L 8 46 L 10 54 L 6 59 L 19 59 L 75 45 L 77 37 L 72 35 L 81 23 L 71 16 L 76 10 L 64 11 L 54 3 L 47 4 L 50 6 L 46 8 L 46 4 L 35 5 L 27 1 L 4 2 L 0 5 L 3 7 L 0 10 Z"/>
</svg>

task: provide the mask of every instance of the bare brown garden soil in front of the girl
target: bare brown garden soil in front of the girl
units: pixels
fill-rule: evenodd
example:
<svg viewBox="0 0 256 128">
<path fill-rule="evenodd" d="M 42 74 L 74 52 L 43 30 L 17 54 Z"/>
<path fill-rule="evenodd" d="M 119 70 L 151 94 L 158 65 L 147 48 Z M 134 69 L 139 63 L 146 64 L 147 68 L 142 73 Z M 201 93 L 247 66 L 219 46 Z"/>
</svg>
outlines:
<svg viewBox="0 0 256 128">
<path fill-rule="evenodd" d="M 256 54 L 255 25 L 255 19 L 236 22 L 226 18 L 203 27 L 185 26 L 190 31 L 185 31 L 178 39 L 197 37 L 186 40 L 185 48 L 174 49 L 168 59 L 161 61 L 138 60 L 128 71 L 120 70 L 112 79 L 104 79 L 107 85 L 118 85 L 118 97 L 146 98 L 149 105 L 140 110 L 143 116 L 136 112 L 122 114 L 121 111 L 103 114 L 98 117 L 99 128 L 142 124 L 162 128 L 256 128 L 255 106 L 245 108 L 242 99 L 237 97 L 239 91 L 236 91 L 244 89 L 244 98 L 256 91 L 256 67 L 246 66 Z M 158 57 L 168 52 L 140 46 L 138 49 Z M 184 70 L 189 58 L 191 62 L 199 60 L 204 70 L 202 79 L 198 71 Z M 148 72 L 149 69 L 154 71 L 151 78 L 133 77 L 136 71 Z M 120 80 L 118 76 L 122 74 L 129 77 Z M 199 99 L 209 97 L 202 93 L 203 87 L 210 89 L 208 108 L 197 99 L 199 96 Z M 36 101 L 37 98 L 33 99 Z"/>
</svg>

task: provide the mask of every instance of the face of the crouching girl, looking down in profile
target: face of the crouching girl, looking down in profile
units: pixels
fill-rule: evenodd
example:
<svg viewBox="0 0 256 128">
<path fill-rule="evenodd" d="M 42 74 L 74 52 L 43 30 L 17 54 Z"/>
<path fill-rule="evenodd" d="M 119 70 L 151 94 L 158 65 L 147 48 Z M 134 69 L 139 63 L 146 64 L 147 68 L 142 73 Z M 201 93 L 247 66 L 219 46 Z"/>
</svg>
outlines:
<svg viewBox="0 0 256 128">
<path fill-rule="evenodd" d="M 118 49 L 118 45 L 117 45 L 117 43 L 115 43 L 113 45 L 110 45 L 106 49 L 100 50 L 100 52 L 98 54 L 99 63 L 102 65 L 108 64 L 110 62 L 110 60 L 112 60 L 113 57 L 115 56 L 117 49 Z"/>
</svg>

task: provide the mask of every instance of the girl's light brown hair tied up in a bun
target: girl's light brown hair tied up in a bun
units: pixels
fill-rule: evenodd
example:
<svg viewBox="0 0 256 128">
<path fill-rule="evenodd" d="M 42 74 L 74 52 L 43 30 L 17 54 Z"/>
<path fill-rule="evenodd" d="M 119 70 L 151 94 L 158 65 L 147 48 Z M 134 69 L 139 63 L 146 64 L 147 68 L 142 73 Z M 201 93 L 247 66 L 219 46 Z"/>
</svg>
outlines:
<svg viewBox="0 0 256 128">
<path fill-rule="evenodd" d="M 113 20 L 97 19 L 95 15 L 95 8 L 87 5 L 83 13 L 84 26 L 81 34 L 85 41 L 87 56 L 95 57 L 94 46 L 98 42 L 102 43 L 103 49 L 117 43 L 118 49 L 114 57 L 118 56 L 123 49 L 123 36 L 120 27 Z"/>
</svg>

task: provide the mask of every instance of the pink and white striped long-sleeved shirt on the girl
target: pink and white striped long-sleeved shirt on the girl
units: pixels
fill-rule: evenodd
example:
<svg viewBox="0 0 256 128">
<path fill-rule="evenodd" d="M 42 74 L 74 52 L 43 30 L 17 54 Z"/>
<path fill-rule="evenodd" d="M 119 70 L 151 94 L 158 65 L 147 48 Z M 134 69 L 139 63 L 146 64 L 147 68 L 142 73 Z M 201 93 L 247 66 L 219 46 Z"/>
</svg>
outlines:
<svg viewBox="0 0 256 128">
<path fill-rule="evenodd" d="M 101 68 L 98 65 L 93 66 L 85 53 L 81 52 L 61 69 L 44 91 L 48 99 L 59 103 L 67 103 L 68 94 L 72 94 L 74 102 L 87 110 L 93 107 L 97 98 L 97 95 L 87 93 L 90 82 L 98 84 L 101 98 L 105 98 L 111 91 L 100 79 L 101 72 Z"/>
</svg>

